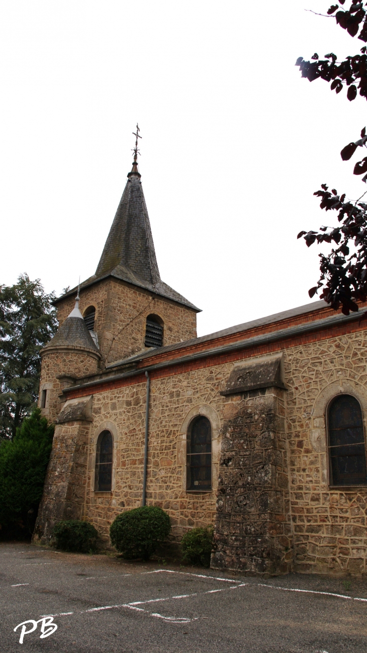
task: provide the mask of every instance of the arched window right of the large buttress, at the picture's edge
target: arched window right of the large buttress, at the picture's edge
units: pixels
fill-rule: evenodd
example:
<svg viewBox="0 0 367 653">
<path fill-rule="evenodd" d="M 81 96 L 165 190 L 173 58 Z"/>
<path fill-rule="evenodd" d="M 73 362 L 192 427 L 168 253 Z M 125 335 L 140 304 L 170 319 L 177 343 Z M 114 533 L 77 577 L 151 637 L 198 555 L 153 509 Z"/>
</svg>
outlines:
<svg viewBox="0 0 367 653">
<path fill-rule="evenodd" d="M 362 411 L 350 394 L 332 400 L 328 409 L 330 485 L 366 485 L 366 445 Z"/>
</svg>

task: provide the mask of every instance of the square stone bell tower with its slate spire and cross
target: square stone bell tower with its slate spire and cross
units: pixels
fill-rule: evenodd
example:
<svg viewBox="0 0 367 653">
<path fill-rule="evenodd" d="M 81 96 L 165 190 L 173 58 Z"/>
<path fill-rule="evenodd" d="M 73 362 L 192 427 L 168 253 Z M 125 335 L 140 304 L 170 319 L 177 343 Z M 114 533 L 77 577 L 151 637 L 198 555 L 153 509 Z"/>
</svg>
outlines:
<svg viewBox="0 0 367 653">
<path fill-rule="evenodd" d="M 80 311 L 101 355 L 101 369 L 152 346 L 196 338 L 199 308 L 162 281 L 138 170 L 138 125 L 133 168 L 95 274 L 80 284 Z M 72 289 L 59 297 L 60 325 L 69 315 Z M 147 332 L 148 328 L 148 332 Z M 154 346 L 154 345 L 153 345 Z"/>
</svg>

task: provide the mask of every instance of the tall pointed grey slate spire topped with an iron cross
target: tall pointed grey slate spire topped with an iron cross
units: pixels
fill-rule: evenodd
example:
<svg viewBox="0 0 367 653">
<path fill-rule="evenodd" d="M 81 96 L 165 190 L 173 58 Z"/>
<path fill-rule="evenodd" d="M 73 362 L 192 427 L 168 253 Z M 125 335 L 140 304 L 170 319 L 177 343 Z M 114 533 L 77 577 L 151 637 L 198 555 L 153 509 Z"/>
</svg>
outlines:
<svg viewBox="0 0 367 653">
<path fill-rule="evenodd" d="M 124 266 L 142 281 L 155 285 L 161 277 L 138 171 L 138 138 L 141 138 L 138 125 L 134 135 L 136 143 L 133 168 L 127 175 L 125 190 L 95 274 L 101 277 L 117 266 Z"/>
</svg>

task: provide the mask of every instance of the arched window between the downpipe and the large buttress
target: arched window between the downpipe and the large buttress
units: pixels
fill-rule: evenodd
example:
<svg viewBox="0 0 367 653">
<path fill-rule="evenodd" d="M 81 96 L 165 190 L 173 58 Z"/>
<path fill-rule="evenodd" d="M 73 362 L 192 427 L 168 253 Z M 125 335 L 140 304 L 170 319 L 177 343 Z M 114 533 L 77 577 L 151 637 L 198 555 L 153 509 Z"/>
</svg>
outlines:
<svg viewBox="0 0 367 653">
<path fill-rule="evenodd" d="M 191 422 L 187 434 L 186 488 L 212 489 L 212 425 L 201 415 Z"/>
</svg>

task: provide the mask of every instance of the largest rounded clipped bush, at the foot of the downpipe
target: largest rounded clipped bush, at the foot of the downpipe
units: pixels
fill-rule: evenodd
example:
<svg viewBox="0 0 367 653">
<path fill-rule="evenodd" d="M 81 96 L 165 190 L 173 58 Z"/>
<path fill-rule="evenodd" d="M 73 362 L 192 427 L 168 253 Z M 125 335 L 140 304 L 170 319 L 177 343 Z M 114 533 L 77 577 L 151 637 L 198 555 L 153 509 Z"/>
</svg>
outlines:
<svg viewBox="0 0 367 653">
<path fill-rule="evenodd" d="M 169 533 L 170 518 L 164 510 L 153 505 L 121 513 L 110 526 L 112 544 L 128 560 L 149 560 Z"/>
</svg>

